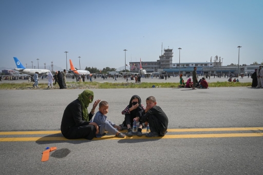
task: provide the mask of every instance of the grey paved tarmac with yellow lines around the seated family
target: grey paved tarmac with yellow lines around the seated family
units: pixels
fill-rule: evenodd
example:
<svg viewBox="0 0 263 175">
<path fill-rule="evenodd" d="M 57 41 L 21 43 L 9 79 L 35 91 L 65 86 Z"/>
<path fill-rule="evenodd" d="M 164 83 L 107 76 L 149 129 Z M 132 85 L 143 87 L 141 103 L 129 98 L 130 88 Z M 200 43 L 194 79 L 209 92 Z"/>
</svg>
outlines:
<svg viewBox="0 0 263 175">
<path fill-rule="evenodd" d="M 1 174 L 260 175 L 263 172 L 262 89 L 93 89 L 122 123 L 132 95 L 151 95 L 169 117 L 164 137 L 106 135 L 67 140 L 65 107 L 83 90 L 0 90 Z M 91 106 L 88 107 L 91 110 Z M 127 130 L 126 130 L 127 131 Z M 123 131 L 124 133 L 126 131 Z M 46 147 L 57 147 L 41 162 Z"/>
</svg>

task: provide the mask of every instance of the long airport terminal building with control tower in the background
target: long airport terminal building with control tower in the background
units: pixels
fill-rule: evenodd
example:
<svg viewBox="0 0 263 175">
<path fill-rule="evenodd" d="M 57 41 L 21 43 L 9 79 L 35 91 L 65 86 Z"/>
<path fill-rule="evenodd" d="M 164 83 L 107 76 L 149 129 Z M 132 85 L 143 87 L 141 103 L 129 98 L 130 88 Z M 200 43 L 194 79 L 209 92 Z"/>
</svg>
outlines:
<svg viewBox="0 0 263 175">
<path fill-rule="evenodd" d="M 164 54 L 159 56 L 156 61 L 142 61 L 142 68 L 147 71 L 147 73 L 153 72 L 166 72 L 168 74 L 190 74 L 193 71 L 193 67 L 197 67 L 196 72 L 198 74 L 226 74 L 226 73 L 254 73 L 255 68 L 259 68 L 259 65 L 240 65 L 238 66 L 223 66 L 221 58 L 216 56 L 212 62 L 212 57 L 210 62 L 172 62 L 173 49 L 164 49 Z M 239 71 L 238 71 L 239 68 Z M 132 73 L 138 73 L 140 69 L 139 61 L 130 62 L 130 71 Z"/>
</svg>

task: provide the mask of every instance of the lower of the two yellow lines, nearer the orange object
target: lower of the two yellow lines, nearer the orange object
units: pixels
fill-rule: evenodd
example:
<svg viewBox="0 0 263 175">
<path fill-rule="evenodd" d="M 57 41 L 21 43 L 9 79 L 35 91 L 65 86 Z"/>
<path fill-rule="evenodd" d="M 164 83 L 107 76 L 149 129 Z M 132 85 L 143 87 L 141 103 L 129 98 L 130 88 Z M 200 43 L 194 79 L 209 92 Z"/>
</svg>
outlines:
<svg viewBox="0 0 263 175">
<path fill-rule="evenodd" d="M 216 137 L 256 137 L 263 136 L 263 133 L 233 133 L 233 134 L 195 134 L 195 135 L 165 135 L 163 137 L 146 137 L 146 136 L 126 136 L 125 138 L 118 138 L 115 136 L 103 136 L 101 138 L 94 138 L 94 140 L 120 140 L 120 139 L 162 139 L 162 138 L 216 138 Z M 66 141 L 65 137 L 5 137 L 0 138 L 0 142 L 8 141 Z M 87 140 L 87 139 L 75 139 Z"/>
</svg>

